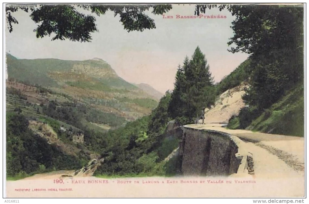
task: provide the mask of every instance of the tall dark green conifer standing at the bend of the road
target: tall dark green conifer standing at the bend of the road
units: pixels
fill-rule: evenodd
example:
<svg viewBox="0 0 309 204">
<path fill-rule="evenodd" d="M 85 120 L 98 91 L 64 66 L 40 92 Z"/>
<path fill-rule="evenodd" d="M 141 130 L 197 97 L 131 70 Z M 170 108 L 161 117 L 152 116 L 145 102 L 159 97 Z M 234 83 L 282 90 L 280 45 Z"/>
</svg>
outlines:
<svg viewBox="0 0 309 204">
<path fill-rule="evenodd" d="M 179 124 L 193 123 L 205 108 L 214 104 L 215 89 L 209 68 L 199 47 L 192 59 L 186 57 L 183 67 L 178 68 L 168 110 Z"/>
</svg>

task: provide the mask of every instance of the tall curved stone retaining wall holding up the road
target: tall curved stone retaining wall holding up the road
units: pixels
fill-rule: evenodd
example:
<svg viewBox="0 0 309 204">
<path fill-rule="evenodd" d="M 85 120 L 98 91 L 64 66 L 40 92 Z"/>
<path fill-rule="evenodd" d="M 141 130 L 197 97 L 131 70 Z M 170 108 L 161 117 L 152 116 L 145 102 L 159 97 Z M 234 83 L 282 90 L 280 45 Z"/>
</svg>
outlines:
<svg viewBox="0 0 309 204">
<path fill-rule="evenodd" d="M 183 127 L 183 175 L 223 176 L 244 172 L 248 152 L 238 137 L 214 130 Z"/>
</svg>

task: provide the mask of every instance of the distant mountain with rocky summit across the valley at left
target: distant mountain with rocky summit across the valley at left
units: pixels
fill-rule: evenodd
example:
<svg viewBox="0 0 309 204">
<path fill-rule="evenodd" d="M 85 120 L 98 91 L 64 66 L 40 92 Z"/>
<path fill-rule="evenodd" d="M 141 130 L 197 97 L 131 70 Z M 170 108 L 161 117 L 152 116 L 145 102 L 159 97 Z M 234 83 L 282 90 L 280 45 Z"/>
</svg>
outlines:
<svg viewBox="0 0 309 204">
<path fill-rule="evenodd" d="M 125 81 L 99 58 L 17 59 L 7 54 L 6 64 L 9 80 L 37 84 L 130 120 L 149 114 L 159 100 L 153 88 L 139 88 Z"/>
</svg>

